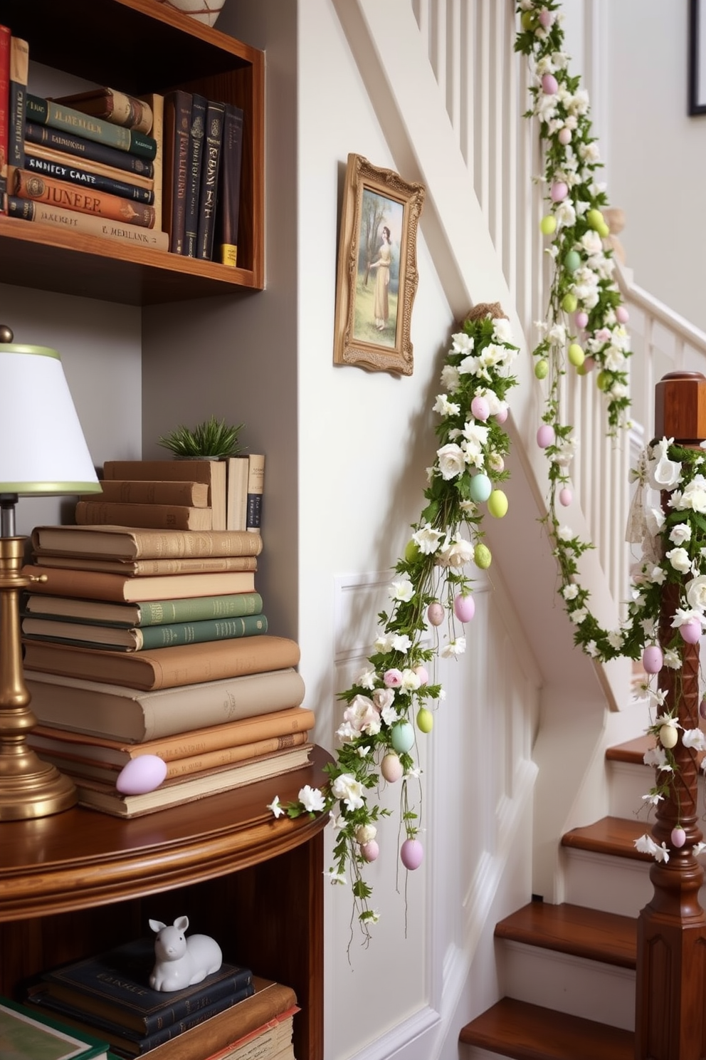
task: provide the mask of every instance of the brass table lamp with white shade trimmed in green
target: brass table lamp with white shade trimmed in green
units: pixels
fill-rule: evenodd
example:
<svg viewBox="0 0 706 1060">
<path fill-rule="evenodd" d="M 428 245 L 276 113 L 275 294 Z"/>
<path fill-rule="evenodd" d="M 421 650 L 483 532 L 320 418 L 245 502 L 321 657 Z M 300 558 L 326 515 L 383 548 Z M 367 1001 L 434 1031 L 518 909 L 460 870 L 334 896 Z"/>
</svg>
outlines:
<svg viewBox="0 0 706 1060">
<path fill-rule="evenodd" d="M 26 743 L 36 725 L 22 672 L 19 600 L 26 537 L 20 496 L 98 493 L 101 484 L 56 350 L 13 342 L 0 325 L 0 823 L 44 817 L 76 801 L 72 781 Z"/>
</svg>

